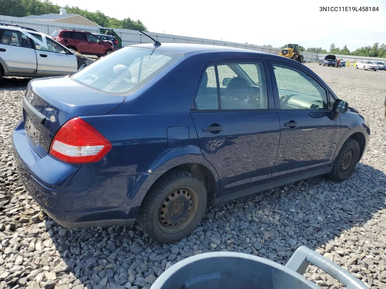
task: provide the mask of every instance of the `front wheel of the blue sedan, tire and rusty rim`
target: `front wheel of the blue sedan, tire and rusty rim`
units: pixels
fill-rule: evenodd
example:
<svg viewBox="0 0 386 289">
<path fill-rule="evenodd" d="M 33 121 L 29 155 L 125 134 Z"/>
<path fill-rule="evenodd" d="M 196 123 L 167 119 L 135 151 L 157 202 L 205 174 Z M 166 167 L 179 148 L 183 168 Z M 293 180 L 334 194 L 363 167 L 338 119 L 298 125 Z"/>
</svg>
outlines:
<svg viewBox="0 0 386 289">
<path fill-rule="evenodd" d="M 359 160 L 359 143 L 352 138 L 347 139 L 339 151 L 339 154 L 332 166 L 328 178 L 333 181 L 344 181 L 354 171 Z"/>
</svg>

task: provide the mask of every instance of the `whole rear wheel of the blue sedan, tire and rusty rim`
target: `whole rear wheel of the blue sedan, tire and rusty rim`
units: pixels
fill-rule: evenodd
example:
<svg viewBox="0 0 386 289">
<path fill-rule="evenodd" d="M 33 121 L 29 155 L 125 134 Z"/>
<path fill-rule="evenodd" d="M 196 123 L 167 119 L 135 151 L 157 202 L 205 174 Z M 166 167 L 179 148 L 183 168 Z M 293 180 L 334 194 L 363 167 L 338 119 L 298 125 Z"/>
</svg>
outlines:
<svg viewBox="0 0 386 289">
<path fill-rule="evenodd" d="M 206 207 L 207 190 L 203 182 L 188 171 L 174 170 L 147 192 L 137 221 L 154 241 L 174 243 L 196 229 Z"/>
</svg>

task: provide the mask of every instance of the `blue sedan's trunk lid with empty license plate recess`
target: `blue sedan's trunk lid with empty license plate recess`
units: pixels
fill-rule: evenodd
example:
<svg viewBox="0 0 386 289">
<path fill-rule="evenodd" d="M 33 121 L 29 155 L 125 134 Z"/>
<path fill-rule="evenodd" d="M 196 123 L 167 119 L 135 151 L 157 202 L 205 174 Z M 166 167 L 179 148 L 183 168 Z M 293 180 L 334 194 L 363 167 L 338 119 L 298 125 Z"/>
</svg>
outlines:
<svg viewBox="0 0 386 289">
<path fill-rule="evenodd" d="M 34 79 L 23 98 L 25 131 L 36 152 L 44 157 L 66 121 L 77 116 L 108 114 L 124 100 L 124 96 L 96 91 L 68 76 Z"/>
</svg>

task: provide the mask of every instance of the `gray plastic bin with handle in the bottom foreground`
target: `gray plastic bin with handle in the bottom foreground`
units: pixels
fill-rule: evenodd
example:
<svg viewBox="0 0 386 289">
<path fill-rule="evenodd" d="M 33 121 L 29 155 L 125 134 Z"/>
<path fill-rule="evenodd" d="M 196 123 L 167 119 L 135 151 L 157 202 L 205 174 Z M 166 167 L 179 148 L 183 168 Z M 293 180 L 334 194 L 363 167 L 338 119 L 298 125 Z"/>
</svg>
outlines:
<svg viewBox="0 0 386 289">
<path fill-rule="evenodd" d="M 337 264 L 304 246 L 285 266 L 235 252 L 195 255 L 163 272 L 150 289 L 320 289 L 303 276 L 309 264 L 327 272 L 347 289 L 368 289 Z"/>
</svg>

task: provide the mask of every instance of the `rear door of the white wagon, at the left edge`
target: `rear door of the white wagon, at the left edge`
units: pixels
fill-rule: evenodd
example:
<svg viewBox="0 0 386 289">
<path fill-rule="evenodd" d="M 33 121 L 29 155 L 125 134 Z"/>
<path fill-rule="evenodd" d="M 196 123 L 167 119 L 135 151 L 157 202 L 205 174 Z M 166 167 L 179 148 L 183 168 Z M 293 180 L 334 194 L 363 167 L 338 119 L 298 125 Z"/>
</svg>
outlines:
<svg viewBox="0 0 386 289">
<path fill-rule="evenodd" d="M 0 29 L 0 39 L 0 62 L 8 73 L 36 74 L 36 54 L 26 35 L 19 30 Z"/>
</svg>

